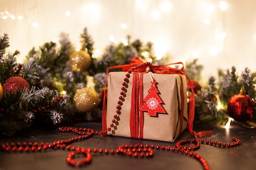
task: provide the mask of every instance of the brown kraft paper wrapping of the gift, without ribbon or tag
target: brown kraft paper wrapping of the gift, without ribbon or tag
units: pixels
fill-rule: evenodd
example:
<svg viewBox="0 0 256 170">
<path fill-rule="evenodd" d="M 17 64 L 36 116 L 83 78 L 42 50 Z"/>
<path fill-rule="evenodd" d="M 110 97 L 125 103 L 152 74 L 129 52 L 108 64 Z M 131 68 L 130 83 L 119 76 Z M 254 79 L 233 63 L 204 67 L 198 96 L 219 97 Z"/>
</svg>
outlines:
<svg viewBox="0 0 256 170">
<path fill-rule="evenodd" d="M 112 124 L 116 115 L 117 102 L 121 92 L 122 83 L 126 77 L 126 72 L 111 72 L 108 75 L 108 99 L 107 99 L 107 126 Z M 117 118 L 114 128 L 108 135 L 130 137 L 130 106 L 132 96 L 132 74 L 130 74 L 126 97 L 121 106 L 121 114 Z M 180 135 L 180 115 L 181 107 L 181 80 L 177 74 L 153 74 L 155 81 L 158 82 L 157 88 L 161 94 L 159 96 L 164 101 L 162 106 L 168 114 L 158 113 L 158 117 L 150 117 L 144 112 L 143 139 L 173 142 Z M 184 120 L 182 131 L 186 129 L 188 120 L 187 96 L 186 96 L 186 77 L 182 75 L 184 89 Z M 143 99 L 148 95 L 151 87 L 151 77 L 148 73 L 143 75 Z"/>
</svg>

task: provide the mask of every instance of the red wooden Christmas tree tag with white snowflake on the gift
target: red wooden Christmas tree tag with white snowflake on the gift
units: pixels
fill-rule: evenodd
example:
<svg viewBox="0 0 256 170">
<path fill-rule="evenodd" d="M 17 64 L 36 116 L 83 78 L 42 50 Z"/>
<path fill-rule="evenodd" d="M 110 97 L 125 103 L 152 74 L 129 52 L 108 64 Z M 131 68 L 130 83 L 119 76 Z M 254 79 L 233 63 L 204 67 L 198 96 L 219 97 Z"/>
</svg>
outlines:
<svg viewBox="0 0 256 170">
<path fill-rule="evenodd" d="M 166 114 L 166 110 L 162 106 L 164 104 L 163 100 L 160 98 L 158 94 L 161 94 L 157 89 L 157 82 L 155 79 L 151 82 L 151 87 L 148 90 L 149 94 L 144 98 L 143 102 L 145 102 L 141 108 L 140 111 L 148 112 L 149 116 L 155 116 L 157 117 L 157 113 L 164 113 Z"/>
</svg>

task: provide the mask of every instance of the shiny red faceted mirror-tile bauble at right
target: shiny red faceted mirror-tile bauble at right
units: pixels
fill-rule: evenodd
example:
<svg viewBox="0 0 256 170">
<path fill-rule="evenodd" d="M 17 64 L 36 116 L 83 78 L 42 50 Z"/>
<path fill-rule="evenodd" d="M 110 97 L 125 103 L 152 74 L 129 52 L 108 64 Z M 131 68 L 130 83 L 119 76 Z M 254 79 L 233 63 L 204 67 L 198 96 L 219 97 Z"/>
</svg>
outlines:
<svg viewBox="0 0 256 170">
<path fill-rule="evenodd" d="M 234 95 L 227 103 L 227 112 L 236 121 L 248 121 L 253 117 L 254 101 L 248 95 Z"/>
</svg>

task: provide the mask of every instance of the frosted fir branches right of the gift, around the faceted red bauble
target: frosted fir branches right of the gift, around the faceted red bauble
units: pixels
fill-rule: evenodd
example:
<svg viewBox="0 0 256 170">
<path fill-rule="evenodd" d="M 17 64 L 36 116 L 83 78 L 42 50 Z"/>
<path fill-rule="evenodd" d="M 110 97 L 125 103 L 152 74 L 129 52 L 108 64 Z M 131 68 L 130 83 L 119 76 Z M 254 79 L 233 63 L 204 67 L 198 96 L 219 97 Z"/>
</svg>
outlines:
<svg viewBox="0 0 256 170">
<path fill-rule="evenodd" d="M 251 73 L 249 68 L 238 75 L 236 68 L 231 70 L 218 71 L 218 82 L 215 77 L 209 78 L 207 87 L 202 89 L 200 96 L 195 97 L 195 113 L 200 121 L 214 121 L 218 124 L 225 124 L 229 117 L 227 113 L 227 104 L 229 99 L 240 93 L 242 87 L 245 88 L 245 94 L 256 101 L 255 84 L 256 73 Z M 256 110 L 252 121 L 256 120 Z"/>
</svg>

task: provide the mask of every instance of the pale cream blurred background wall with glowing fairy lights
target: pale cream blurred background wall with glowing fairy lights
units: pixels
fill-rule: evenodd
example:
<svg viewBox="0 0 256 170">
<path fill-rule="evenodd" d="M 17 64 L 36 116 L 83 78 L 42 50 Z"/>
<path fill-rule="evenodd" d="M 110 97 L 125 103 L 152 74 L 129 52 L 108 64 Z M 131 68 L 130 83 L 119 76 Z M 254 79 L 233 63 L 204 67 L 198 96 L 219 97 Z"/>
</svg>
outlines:
<svg viewBox="0 0 256 170">
<path fill-rule="evenodd" d="M 202 84 L 219 68 L 256 71 L 255 0 L 0 0 L 0 35 L 18 62 L 62 32 L 80 49 L 85 27 L 99 57 L 130 35 L 152 42 L 166 64 L 198 59 Z"/>
</svg>

